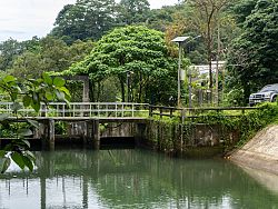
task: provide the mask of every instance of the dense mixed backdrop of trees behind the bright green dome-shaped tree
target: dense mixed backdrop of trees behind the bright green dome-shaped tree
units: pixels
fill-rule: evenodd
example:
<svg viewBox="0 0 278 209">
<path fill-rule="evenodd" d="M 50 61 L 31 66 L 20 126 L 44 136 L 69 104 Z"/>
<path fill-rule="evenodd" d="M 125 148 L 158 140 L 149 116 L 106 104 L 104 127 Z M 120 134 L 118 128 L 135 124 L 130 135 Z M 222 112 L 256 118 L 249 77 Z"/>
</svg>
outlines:
<svg viewBox="0 0 278 209">
<path fill-rule="evenodd" d="M 22 78 L 28 74 L 39 77 L 44 71 L 68 70 L 90 54 L 95 44 L 91 40 L 97 42 L 118 27 L 139 24 L 165 33 L 169 51 L 167 59 L 178 54 L 171 40 L 178 36 L 190 36 L 192 39 L 185 43 L 183 51 L 191 63 L 210 67 L 211 61 L 228 60 L 228 76 L 224 71 L 217 79 L 209 68 L 208 77 L 196 74 L 195 80 L 198 79 L 193 90 L 202 89 L 206 92 L 208 89 L 226 89 L 225 97 L 221 97 L 226 98 L 226 104 L 244 106 L 250 92 L 266 83 L 277 82 L 276 8 L 277 1 L 271 0 L 185 0 L 161 9 L 150 9 L 148 0 L 78 0 L 64 6 L 58 13 L 54 28 L 46 38 L 34 37 L 22 42 L 9 39 L 1 42 L 0 71 L 1 74 L 12 73 Z M 193 39 L 196 37 L 199 38 Z M 128 54 L 129 49 L 126 48 L 125 53 Z M 107 70 L 103 72 L 107 73 Z M 135 101 L 150 101 L 150 98 L 155 98 L 153 101 L 160 102 L 175 96 L 172 82 L 165 83 L 165 89 L 168 86 L 172 88 L 169 88 L 171 92 L 167 92 L 163 99 L 152 96 L 152 92 L 161 89 L 162 83 L 155 84 L 152 92 L 145 92 L 145 96 L 139 90 L 138 96 L 138 88 L 142 91 L 143 88 L 150 88 L 148 82 L 143 83 L 145 87 L 138 87 L 140 74 L 128 76 L 130 79 L 127 76 L 125 78 L 123 73 L 119 76 L 110 72 L 106 79 L 96 80 L 95 77 L 91 77 L 91 91 L 95 92 L 92 100 L 128 100 L 127 89 L 130 89 L 130 100 Z M 156 80 L 157 83 L 161 82 L 160 77 L 152 78 L 160 79 Z M 125 87 L 128 82 L 133 86 Z M 199 88 L 200 83 L 205 84 Z M 182 87 L 182 96 L 186 98 L 185 89 L 188 87 Z M 113 89 L 121 93 L 115 94 L 111 92 Z"/>
</svg>

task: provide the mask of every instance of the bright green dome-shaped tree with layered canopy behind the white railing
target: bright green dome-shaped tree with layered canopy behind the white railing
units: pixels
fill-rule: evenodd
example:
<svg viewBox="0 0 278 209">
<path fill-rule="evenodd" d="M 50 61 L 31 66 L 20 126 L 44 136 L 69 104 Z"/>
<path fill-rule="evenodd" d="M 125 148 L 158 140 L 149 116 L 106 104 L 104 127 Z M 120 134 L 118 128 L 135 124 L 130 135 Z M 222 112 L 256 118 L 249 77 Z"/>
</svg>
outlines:
<svg viewBox="0 0 278 209">
<path fill-rule="evenodd" d="M 167 102 L 176 94 L 172 92 L 176 68 L 162 32 L 130 26 L 103 36 L 83 61 L 64 73 L 89 74 L 98 90 L 101 82 L 113 77 L 119 83 L 122 101 Z"/>
</svg>

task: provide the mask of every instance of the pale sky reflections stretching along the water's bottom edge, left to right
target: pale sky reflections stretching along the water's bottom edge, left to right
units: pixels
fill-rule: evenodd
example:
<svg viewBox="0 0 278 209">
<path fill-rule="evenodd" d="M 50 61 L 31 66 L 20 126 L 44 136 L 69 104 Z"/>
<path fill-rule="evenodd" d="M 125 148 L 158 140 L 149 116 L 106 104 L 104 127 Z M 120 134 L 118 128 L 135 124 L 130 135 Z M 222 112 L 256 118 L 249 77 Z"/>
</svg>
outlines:
<svg viewBox="0 0 278 209">
<path fill-rule="evenodd" d="M 54 177 L 46 180 L 46 200 L 41 203 L 41 180 L 36 179 L 10 179 L 0 180 L 0 209 L 38 209 L 38 208 L 122 208 L 125 205 L 116 206 L 115 199 L 103 199 L 99 196 L 97 185 L 87 182 L 88 199 L 83 199 L 83 179 L 82 177 Z M 89 186 L 90 185 L 90 186 Z M 163 192 L 163 191 L 161 191 Z M 120 198 L 120 197 L 119 197 Z M 147 198 L 147 197 L 146 197 Z M 221 202 L 200 202 L 200 197 L 183 197 L 178 200 L 175 197 L 161 196 L 159 201 L 149 200 L 148 207 L 151 208 L 232 208 L 231 197 L 224 195 Z M 105 202 L 103 202 L 105 201 Z M 118 200 L 120 201 L 120 200 Z M 190 201 L 190 202 L 189 202 Z M 117 202 L 119 203 L 119 202 Z M 235 202 L 234 202 L 235 203 Z M 234 205 L 235 206 L 235 205 Z M 135 202 L 126 205 L 125 208 L 146 208 L 145 203 Z"/>
</svg>

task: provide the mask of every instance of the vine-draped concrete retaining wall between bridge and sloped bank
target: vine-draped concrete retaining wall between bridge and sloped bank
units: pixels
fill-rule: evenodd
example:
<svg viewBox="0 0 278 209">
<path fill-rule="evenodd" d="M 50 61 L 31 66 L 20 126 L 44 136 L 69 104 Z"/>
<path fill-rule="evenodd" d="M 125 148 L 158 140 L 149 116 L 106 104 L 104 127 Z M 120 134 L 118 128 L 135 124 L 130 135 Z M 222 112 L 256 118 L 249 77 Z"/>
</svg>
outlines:
<svg viewBox="0 0 278 209">
<path fill-rule="evenodd" d="M 212 157 L 224 155 L 239 139 L 238 131 L 220 126 L 176 125 L 163 121 L 149 121 L 143 139 L 146 147 L 185 157 Z"/>
</svg>

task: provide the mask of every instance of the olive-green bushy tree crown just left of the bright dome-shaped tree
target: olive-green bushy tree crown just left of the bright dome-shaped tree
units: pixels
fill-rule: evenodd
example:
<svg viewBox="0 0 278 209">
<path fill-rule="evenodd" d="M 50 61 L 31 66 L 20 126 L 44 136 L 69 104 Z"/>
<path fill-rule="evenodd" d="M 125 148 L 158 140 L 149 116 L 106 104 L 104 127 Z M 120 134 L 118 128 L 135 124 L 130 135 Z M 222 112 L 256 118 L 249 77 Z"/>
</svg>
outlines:
<svg viewBox="0 0 278 209">
<path fill-rule="evenodd" d="M 42 72 L 67 70 L 72 63 L 89 54 L 92 41 L 76 41 L 67 46 L 61 39 L 46 37 L 29 43 L 22 54 L 13 59 L 9 72 L 16 77 L 33 76 Z"/>
</svg>

